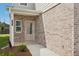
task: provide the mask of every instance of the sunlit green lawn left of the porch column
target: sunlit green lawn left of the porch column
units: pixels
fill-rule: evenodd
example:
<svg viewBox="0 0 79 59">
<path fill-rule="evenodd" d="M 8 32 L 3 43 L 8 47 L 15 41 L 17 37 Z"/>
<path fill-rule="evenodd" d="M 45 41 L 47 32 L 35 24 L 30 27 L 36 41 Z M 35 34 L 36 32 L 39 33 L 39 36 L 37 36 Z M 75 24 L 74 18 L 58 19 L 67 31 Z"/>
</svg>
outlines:
<svg viewBox="0 0 79 59">
<path fill-rule="evenodd" d="M 8 45 L 9 34 L 0 34 L 0 48 Z"/>
</svg>

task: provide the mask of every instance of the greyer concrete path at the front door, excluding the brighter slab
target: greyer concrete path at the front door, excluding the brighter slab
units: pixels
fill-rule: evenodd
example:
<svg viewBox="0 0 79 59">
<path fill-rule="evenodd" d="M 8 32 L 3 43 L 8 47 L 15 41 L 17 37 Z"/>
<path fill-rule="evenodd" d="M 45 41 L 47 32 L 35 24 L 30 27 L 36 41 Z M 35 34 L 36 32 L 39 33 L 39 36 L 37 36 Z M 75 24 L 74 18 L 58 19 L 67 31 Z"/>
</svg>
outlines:
<svg viewBox="0 0 79 59">
<path fill-rule="evenodd" d="M 45 48 L 44 46 L 37 44 L 34 41 L 27 41 L 26 44 L 32 56 L 40 56 L 40 49 Z"/>
</svg>

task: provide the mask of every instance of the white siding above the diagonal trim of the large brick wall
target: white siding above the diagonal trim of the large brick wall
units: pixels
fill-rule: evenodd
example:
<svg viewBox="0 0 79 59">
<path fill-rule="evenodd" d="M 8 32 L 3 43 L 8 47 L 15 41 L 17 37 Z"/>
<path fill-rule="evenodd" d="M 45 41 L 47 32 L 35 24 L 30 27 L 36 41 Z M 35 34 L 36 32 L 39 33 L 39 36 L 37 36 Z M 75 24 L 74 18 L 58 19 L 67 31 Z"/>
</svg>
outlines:
<svg viewBox="0 0 79 59">
<path fill-rule="evenodd" d="M 57 4 L 58 3 L 35 3 L 35 8 L 36 8 L 36 10 L 44 12 Z"/>
</svg>

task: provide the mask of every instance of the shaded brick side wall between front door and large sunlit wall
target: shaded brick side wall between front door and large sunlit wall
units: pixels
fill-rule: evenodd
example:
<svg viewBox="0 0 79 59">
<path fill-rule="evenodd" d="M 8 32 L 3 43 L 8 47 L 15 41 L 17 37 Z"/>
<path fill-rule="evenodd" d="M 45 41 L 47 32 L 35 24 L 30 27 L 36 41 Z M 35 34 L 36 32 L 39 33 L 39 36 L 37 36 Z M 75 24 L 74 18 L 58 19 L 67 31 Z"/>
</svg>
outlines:
<svg viewBox="0 0 79 59">
<path fill-rule="evenodd" d="M 43 27 L 43 20 L 42 20 L 42 15 L 39 15 L 36 18 L 36 23 L 35 23 L 35 33 L 36 33 L 36 38 L 35 41 L 38 42 L 39 44 L 42 44 L 43 46 L 46 46 L 46 41 L 45 41 L 45 33 L 44 33 L 44 27 Z"/>
</svg>

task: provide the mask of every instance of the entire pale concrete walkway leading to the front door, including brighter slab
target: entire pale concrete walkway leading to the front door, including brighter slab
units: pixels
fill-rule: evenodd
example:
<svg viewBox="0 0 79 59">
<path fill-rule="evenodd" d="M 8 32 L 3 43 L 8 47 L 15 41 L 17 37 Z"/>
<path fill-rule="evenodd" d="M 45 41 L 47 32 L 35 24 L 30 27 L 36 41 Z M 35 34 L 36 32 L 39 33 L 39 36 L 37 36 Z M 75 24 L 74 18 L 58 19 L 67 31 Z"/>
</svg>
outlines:
<svg viewBox="0 0 79 59">
<path fill-rule="evenodd" d="M 28 41 L 27 47 L 30 50 L 32 56 L 58 56 L 58 54 L 55 52 L 33 41 Z"/>
</svg>

